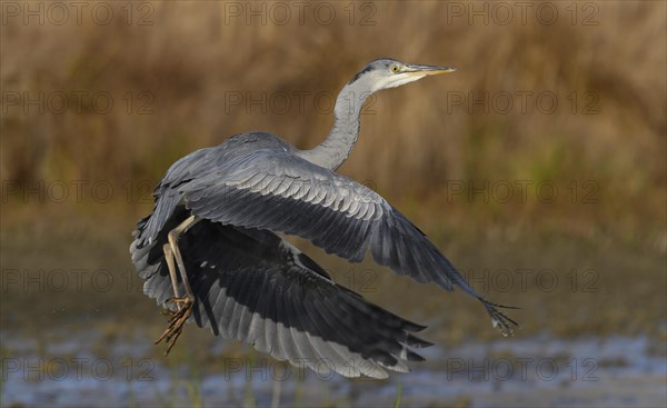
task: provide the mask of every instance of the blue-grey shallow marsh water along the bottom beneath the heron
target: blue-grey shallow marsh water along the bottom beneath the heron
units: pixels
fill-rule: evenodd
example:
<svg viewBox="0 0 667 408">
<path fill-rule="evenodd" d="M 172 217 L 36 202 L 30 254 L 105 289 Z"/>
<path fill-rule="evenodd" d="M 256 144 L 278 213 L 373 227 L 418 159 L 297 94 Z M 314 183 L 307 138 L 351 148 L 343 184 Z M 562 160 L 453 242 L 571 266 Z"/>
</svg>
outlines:
<svg viewBox="0 0 667 408">
<path fill-rule="evenodd" d="M 208 352 L 221 366 L 210 369 L 195 358 L 152 357 L 148 336 L 107 342 L 104 356 L 97 342 L 104 342 L 99 331 L 82 330 L 40 350 L 37 341 L 3 335 L 11 356 L 3 359 L 3 405 L 386 407 L 399 387 L 405 407 L 641 407 L 667 398 L 666 356 L 646 337 L 435 346 L 424 350 L 427 364 L 387 381 L 316 375 L 252 354 L 226 356 L 219 344 Z"/>
</svg>

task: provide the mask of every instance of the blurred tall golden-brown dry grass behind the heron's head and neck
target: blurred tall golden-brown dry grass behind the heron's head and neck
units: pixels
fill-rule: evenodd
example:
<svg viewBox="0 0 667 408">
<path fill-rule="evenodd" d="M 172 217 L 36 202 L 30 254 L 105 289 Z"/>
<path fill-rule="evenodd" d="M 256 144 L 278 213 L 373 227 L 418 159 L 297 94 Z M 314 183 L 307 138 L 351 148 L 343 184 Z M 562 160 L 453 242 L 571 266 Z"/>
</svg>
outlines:
<svg viewBox="0 0 667 408">
<path fill-rule="evenodd" d="M 155 24 L 143 27 L 127 24 L 123 4 L 115 4 L 117 18 L 108 26 L 92 23 L 88 14 L 82 24 L 73 18 L 63 26 L 9 18 L 2 26 L 3 92 L 70 98 L 62 115 L 48 105 L 44 113 L 34 106 L 26 113 L 26 101 L 3 106 L 3 181 L 108 180 L 119 189 L 136 180 L 152 183 L 180 156 L 247 130 L 268 130 L 311 147 L 331 123 L 330 110 L 317 109 L 315 96 L 335 94 L 366 61 L 391 56 L 459 70 L 379 94 L 370 107 L 376 113 L 362 118 L 361 139 L 342 172 L 366 180 L 422 223 L 426 216 L 419 220 L 417 205 L 427 203 L 431 232 L 444 226 L 499 226 L 500 235 L 516 233 L 511 228 L 558 229 L 589 238 L 640 239 L 665 250 L 664 2 L 580 6 L 575 23 L 571 3 L 557 2 L 559 18 L 551 26 L 535 18 L 535 8 L 521 23 L 516 7 L 511 24 L 498 23 L 502 16 L 492 12 L 488 24 L 479 17 L 469 24 L 469 14 L 456 17 L 451 3 L 439 1 L 375 3 L 372 26 L 358 23 L 374 10 L 361 3 L 354 24 L 347 3 L 328 3 L 337 12 L 331 24 L 318 23 L 311 9 L 302 24 L 296 9 L 285 26 L 275 23 L 279 10 L 268 11 L 262 24 L 230 14 L 230 4 L 248 7 L 245 2 L 201 1 L 151 2 L 147 21 Z M 132 22 L 147 10 L 135 9 Z M 584 24 L 590 12 L 596 26 Z M 78 112 L 73 92 L 80 91 L 89 97 Z M 96 92 L 112 96 L 108 113 L 94 111 L 90 97 Z M 131 115 L 123 99 L 128 92 Z M 147 101 L 141 92 L 152 98 L 150 115 L 136 115 Z M 227 99 L 238 92 L 245 101 L 230 106 Z M 269 103 L 261 112 L 247 103 L 245 92 L 256 99 L 285 92 L 292 106 L 281 112 Z M 302 111 L 293 92 L 309 92 Z M 471 97 L 484 92 L 490 112 L 475 106 L 469 111 Z M 492 102 L 498 92 L 511 96 L 510 113 L 498 113 L 504 106 Z M 558 108 L 546 115 L 529 97 L 522 112 L 517 92 L 552 92 Z M 576 108 L 568 99 L 573 92 Z M 454 106 L 452 98 L 460 96 L 464 106 Z M 584 115 L 587 107 L 594 115 Z M 504 205 L 494 197 L 469 202 L 465 191 L 448 198 L 450 180 L 477 186 L 554 180 L 560 197 L 552 203 L 540 203 L 534 193 L 527 202 Z M 564 199 L 573 180 L 578 182 L 576 205 L 571 193 Z M 590 192 L 581 187 L 587 180 L 597 186 L 594 205 L 580 202 Z M 3 189 L 3 195 L 14 203 L 11 193 Z M 127 200 L 115 202 L 127 207 Z M 444 206 L 447 211 L 434 216 Z M 14 207 L 11 213 L 3 209 L 3 216 L 20 221 L 31 218 L 30 211 L 17 218 Z"/>
</svg>

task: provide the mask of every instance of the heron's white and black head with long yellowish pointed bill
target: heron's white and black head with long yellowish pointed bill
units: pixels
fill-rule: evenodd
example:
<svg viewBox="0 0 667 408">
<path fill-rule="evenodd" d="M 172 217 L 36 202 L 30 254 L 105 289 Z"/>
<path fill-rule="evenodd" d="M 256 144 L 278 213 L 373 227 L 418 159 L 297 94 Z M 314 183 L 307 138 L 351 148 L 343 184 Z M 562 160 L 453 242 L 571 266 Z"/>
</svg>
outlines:
<svg viewBox="0 0 667 408">
<path fill-rule="evenodd" d="M 404 63 L 382 58 L 368 63 L 348 82 L 366 86 L 371 92 L 415 82 L 427 76 L 454 72 L 456 69 L 437 66 Z"/>
</svg>

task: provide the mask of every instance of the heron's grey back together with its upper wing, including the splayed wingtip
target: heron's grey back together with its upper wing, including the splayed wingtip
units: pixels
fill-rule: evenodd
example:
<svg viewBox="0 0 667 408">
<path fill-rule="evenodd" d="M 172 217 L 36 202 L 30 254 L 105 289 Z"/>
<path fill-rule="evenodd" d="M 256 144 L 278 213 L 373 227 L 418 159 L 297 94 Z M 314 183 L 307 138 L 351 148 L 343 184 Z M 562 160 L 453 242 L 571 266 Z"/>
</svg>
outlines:
<svg viewBox="0 0 667 408">
<path fill-rule="evenodd" d="M 175 163 L 158 189 L 141 242 L 151 242 L 185 202 L 200 218 L 300 236 L 350 261 L 360 261 L 370 249 L 376 262 L 399 275 L 447 290 L 458 286 L 479 299 L 505 336 L 517 325 L 377 192 L 300 158 L 270 135 L 245 133 L 195 152 Z"/>
</svg>

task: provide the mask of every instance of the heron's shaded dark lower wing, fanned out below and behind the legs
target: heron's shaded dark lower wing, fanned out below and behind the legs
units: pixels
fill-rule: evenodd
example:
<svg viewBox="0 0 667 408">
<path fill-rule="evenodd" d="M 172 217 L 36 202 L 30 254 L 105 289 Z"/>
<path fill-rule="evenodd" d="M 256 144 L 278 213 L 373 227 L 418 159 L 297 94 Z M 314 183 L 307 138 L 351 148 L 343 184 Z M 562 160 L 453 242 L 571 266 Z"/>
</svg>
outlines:
<svg viewBox="0 0 667 408">
<path fill-rule="evenodd" d="M 167 232 L 188 216 L 177 207 L 152 243 L 137 239 L 131 247 L 132 261 L 147 280 L 146 293 L 166 307 L 172 288 L 161 248 Z M 139 230 L 145 226 L 146 220 Z M 422 326 L 336 285 L 315 261 L 268 230 L 202 220 L 181 237 L 179 247 L 196 298 L 190 320 L 215 335 L 347 377 L 385 378 L 382 368 L 407 371 L 406 360 L 422 360 L 409 347 L 430 345 L 411 335 Z M 179 286 L 183 292 L 180 278 Z"/>
</svg>

